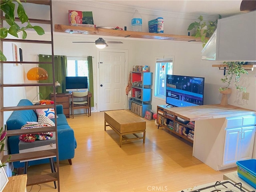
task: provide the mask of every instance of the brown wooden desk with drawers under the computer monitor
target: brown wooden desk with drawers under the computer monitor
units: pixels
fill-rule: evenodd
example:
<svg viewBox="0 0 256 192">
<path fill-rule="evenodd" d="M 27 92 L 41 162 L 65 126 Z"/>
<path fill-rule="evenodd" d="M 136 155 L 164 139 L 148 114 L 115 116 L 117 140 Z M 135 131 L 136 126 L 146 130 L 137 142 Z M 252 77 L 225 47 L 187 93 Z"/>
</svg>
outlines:
<svg viewBox="0 0 256 192">
<path fill-rule="evenodd" d="M 89 95 L 89 114 L 91 116 L 91 98 L 92 93 L 88 92 Z M 72 93 L 57 93 L 56 94 L 56 105 L 63 106 L 63 113 L 66 118 L 70 118 L 70 99 L 72 98 Z M 51 94 L 51 100 L 54 101 L 54 94 Z"/>
</svg>

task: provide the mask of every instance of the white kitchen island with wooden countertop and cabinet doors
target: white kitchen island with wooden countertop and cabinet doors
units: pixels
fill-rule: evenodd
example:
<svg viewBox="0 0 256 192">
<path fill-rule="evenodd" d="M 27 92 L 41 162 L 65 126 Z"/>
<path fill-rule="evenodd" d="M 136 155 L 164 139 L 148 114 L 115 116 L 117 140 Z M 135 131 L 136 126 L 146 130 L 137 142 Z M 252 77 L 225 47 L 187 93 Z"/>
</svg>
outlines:
<svg viewBox="0 0 256 192">
<path fill-rule="evenodd" d="M 195 121 L 193 156 L 214 170 L 236 167 L 236 161 L 252 158 L 256 111 L 220 104 L 165 110 Z"/>
</svg>

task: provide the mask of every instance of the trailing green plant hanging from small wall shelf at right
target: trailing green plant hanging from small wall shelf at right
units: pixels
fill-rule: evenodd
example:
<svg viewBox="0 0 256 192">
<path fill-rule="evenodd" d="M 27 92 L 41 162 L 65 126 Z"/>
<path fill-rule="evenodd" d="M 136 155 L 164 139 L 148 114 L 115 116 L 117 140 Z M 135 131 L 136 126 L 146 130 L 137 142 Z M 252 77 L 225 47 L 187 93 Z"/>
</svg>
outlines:
<svg viewBox="0 0 256 192">
<path fill-rule="evenodd" d="M 226 74 L 224 75 L 224 78 L 221 78 L 221 81 L 223 83 L 227 83 L 225 87 L 220 87 L 219 91 L 223 92 L 224 90 L 227 90 L 230 86 L 231 80 L 234 78 L 234 84 L 236 86 L 236 90 L 241 92 L 246 92 L 246 88 L 239 85 L 239 80 L 241 77 L 241 74 L 248 74 L 248 71 L 244 69 L 243 64 L 245 62 L 223 62 L 223 64 L 226 64 Z"/>
</svg>

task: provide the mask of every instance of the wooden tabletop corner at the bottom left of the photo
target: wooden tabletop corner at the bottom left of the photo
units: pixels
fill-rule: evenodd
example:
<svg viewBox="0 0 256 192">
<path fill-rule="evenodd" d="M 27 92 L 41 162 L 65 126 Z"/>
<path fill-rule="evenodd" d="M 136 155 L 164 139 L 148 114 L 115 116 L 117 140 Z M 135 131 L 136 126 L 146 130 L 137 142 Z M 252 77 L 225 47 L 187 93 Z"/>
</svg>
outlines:
<svg viewBox="0 0 256 192">
<path fill-rule="evenodd" d="M 27 174 L 8 177 L 9 182 L 3 192 L 25 192 L 27 185 Z"/>
</svg>

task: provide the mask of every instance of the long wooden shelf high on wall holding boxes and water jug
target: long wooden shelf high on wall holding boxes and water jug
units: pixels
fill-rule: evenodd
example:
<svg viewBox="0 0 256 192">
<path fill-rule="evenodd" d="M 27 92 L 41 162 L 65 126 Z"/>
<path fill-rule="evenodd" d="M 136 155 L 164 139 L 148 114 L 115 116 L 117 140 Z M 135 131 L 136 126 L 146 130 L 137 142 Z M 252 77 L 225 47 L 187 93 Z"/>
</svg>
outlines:
<svg viewBox="0 0 256 192">
<path fill-rule="evenodd" d="M 114 37 L 125 37 L 125 38 L 144 38 L 144 39 L 158 39 L 158 40 L 202 42 L 201 38 L 195 38 L 194 36 L 172 35 L 172 34 L 164 34 L 164 33 L 134 32 L 134 31 L 112 30 L 112 29 L 92 28 L 92 27 L 68 26 L 68 25 L 60 25 L 60 24 L 55 24 L 54 31 L 74 33 L 74 34 L 114 36 Z"/>
</svg>

